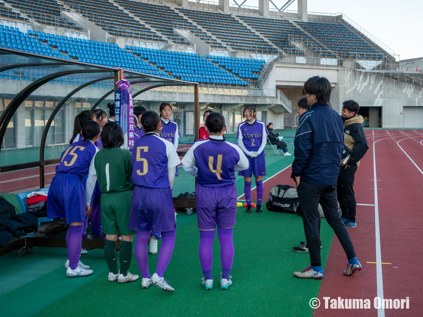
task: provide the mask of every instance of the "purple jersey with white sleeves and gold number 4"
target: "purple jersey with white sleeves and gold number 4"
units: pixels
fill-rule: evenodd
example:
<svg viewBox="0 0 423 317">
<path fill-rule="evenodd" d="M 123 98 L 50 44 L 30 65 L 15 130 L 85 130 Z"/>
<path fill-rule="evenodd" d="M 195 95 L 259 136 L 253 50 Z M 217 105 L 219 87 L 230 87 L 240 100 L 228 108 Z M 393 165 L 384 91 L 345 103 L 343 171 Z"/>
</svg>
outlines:
<svg viewBox="0 0 423 317">
<path fill-rule="evenodd" d="M 197 167 L 195 167 L 197 162 Z M 222 187 L 235 182 L 235 171 L 248 168 L 248 160 L 234 143 L 222 136 L 198 140 L 182 159 L 183 168 L 205 187 Z"/>
</svg>

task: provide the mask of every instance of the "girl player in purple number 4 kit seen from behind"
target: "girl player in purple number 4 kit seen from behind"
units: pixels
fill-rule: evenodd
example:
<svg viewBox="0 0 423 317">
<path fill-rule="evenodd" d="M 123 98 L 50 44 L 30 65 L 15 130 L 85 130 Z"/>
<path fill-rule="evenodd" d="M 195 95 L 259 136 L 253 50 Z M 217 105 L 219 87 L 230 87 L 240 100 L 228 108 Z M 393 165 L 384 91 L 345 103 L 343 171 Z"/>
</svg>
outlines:
<svg viewBox="0 0 423 317">
<path fill-rule="evenodd" d="M 195 206 L 200 228 L 198 254 L 204 275 L 202 284 L 206 290 L 213 288 L 211 247 L 217 225 L 222 260 L 220 288 L 227 290 L 232 284 L 229 274 L 233 262 L 232 232 L 236 216 L 234 172 L 247 169 L 248 160 L 237 145 L 225 141 L 225 118 L 220 113 L 213 112 L 207 117 L 206 131 L 209 139 L 195 142 L 182 159 L 182 166 L 198 180 Z"/>
</svg>

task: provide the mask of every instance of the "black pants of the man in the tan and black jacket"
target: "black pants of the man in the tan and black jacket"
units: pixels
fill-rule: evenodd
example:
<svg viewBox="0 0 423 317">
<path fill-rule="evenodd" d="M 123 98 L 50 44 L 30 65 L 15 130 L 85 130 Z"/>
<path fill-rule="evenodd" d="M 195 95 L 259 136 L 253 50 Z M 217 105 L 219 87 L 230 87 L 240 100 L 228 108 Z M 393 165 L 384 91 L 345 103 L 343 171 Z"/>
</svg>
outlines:
<svg viewBox="0 0 423 317">
<path fill-rule="evenodd" d="M 354 194 L 354 177 L 357 171 L 357 165 L 351 165 L 345 168 L 341 166 L 339 170 L 338 183 L 336 184 L 336 193 L 338 194 L 338 202 L 341 206 L 342 216 L 355 222 L 355 210 L 357 202 Z"/>
</svg>

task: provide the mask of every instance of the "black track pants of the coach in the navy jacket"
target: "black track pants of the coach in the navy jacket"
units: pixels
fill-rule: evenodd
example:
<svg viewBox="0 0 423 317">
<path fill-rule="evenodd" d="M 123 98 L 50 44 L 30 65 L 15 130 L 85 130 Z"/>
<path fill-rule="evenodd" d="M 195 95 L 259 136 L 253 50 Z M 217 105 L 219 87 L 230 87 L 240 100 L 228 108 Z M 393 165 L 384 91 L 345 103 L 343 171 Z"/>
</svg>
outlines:
<svg viewBox="0 0 423 317">
<path fill-rule="evenodd" d="M 310 253 L 311 265 L 321 265 L 319 203 L 323 208 L 327 223 L 332 227 L 339 242 L 341 242 L 347 258 L 351 259 L 355 257 L 354 246 L 352 245 L 348 230 L 339 215 L 336 186 L 314 185 L 301 180 L 297 187 L 297 193 L 301 206 L 302 223 L 304 224 L 304 233 Z"/>
</svg>

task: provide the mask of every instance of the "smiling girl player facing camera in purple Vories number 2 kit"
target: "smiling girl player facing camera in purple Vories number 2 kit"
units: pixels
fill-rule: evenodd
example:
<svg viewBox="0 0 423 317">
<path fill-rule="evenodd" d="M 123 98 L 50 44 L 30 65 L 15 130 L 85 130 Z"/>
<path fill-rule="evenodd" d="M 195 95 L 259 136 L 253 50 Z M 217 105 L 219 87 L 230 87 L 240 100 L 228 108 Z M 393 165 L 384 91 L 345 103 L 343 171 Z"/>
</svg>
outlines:
<svg viewBox="0 0 423 317">
<path fill-rule="evenodd" d="M 266 146 L 266 137 L 269 135 L 266 125 L 263 121 L 255 118 L 256 112 L 252 105 L 244 108 L 245 121 L 238 126 L 236 138 L 238 145 L 247 155 L 250 167 L 244 171 L 238 172 L 238 175 L 244 176 L 244 194 L 247 201 L 247 213 L 252 212 L 251 207 L 251 183 L 252 176 L 255 176 L 255 186 L 257 192 L 257 209 L 261 213 L 261 200 L 263 199 L 263 176 L 266 175 L 266 156 L 264 155 L 264 147 Z"/>
</svg>

